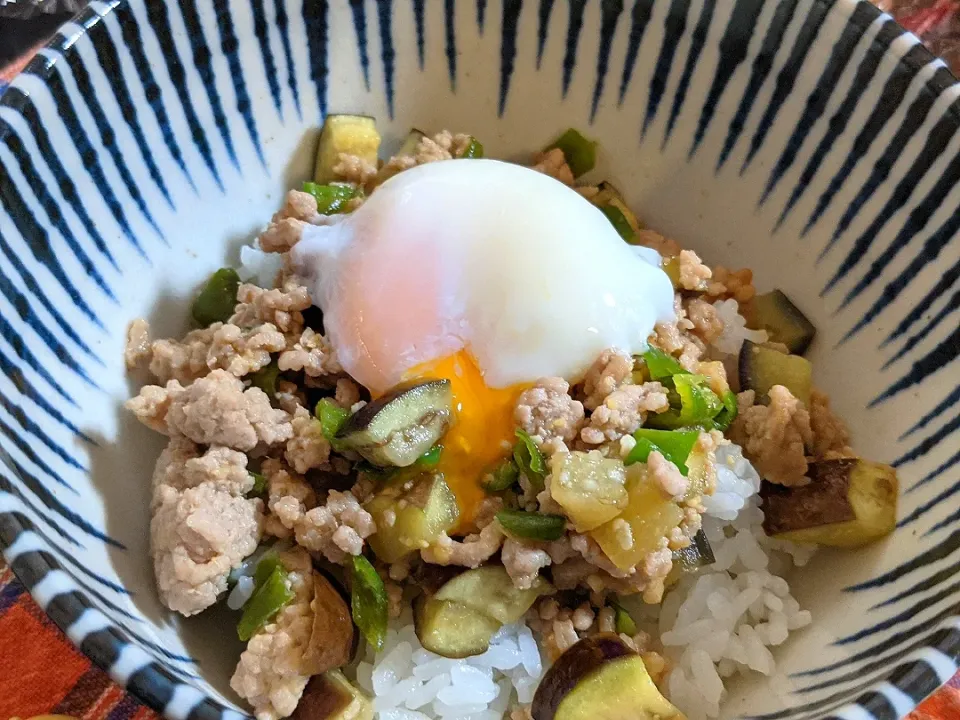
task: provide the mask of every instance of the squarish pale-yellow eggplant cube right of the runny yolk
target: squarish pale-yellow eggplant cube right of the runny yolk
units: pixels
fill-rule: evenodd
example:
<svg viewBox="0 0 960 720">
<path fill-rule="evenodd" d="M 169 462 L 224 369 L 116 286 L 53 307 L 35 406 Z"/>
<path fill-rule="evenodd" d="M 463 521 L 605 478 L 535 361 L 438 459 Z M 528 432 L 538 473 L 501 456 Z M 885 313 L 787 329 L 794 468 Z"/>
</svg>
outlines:
<svg viewBox="0 0 960 720">
<path fill-rule="evenodd" d="M 619 459 L 599 450 L 555 455 L 550 495 L 563 508 L 577 532 L 612 520 L 627 506 L 627 472 Z"/>
</svg>

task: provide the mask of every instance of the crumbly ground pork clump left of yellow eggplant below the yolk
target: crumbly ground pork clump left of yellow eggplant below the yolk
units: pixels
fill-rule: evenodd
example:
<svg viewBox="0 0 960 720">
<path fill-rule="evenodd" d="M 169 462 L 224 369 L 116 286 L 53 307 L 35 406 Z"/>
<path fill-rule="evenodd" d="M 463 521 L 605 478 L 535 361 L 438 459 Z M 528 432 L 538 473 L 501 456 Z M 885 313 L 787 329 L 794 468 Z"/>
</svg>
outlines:
<svg viewBox="0 0 960 720">
<path fill-rule="evenodd" d="M 350 492 L 331 490 L 326 502 L 313 508 L 297 524 L 297 542 L 322 553 L 332 563 L 342 563 L 363 551 L 363 542 L 377 531 L 373 516 Z"/>
</svg>

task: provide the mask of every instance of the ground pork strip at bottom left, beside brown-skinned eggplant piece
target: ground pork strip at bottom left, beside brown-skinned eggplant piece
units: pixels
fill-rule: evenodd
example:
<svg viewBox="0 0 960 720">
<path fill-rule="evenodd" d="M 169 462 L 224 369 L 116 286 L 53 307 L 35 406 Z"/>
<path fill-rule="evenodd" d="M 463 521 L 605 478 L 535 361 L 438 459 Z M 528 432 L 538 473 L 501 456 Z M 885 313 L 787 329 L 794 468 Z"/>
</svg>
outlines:
<svg viewBox="0 0 960 720">
<path fill-rule="evenodd" d="M 290 716 L 310 679 L 304 664 L 313 631 L 313 570 L 296 548 L 281 556 L 293 600 L 259 630 L 240 655 L 230 687 L 253 706 L 257 720 Z"/>
</svg>

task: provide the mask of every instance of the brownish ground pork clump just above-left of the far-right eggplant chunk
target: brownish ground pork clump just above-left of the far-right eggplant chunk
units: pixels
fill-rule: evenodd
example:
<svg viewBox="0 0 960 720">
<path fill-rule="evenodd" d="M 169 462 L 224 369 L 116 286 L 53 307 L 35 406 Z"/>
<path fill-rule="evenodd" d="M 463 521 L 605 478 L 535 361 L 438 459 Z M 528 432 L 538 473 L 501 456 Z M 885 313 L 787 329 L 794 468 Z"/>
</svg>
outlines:
<svg viewBox="0 0 960 720">
<path fill-rule="evenodd" d="M 730 427 L 730 439 L 743 448 L 757 472 L 788 487 L 809 482 L 806 448 L 813 444 L 810 413 L 789 390 L 774 385 L 769 405 L 755 405 L 754 392 L 737 396 L 740 412 Z"/>
</svg>

